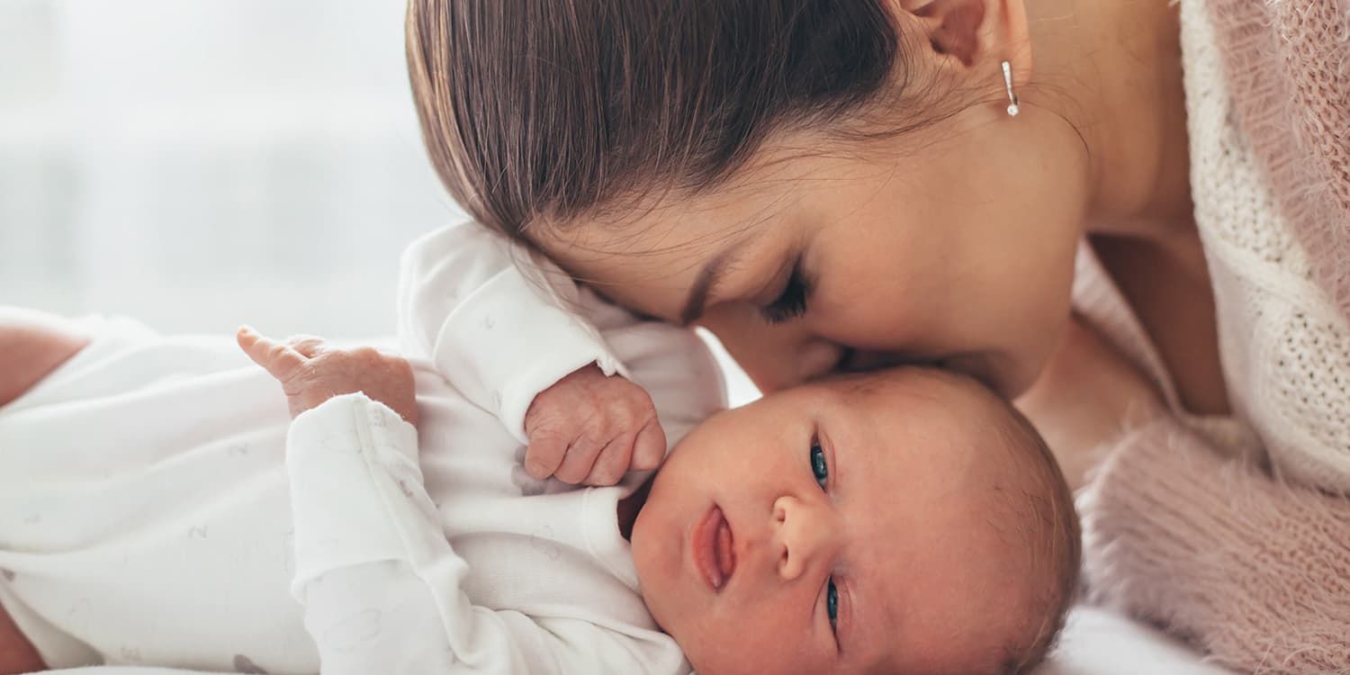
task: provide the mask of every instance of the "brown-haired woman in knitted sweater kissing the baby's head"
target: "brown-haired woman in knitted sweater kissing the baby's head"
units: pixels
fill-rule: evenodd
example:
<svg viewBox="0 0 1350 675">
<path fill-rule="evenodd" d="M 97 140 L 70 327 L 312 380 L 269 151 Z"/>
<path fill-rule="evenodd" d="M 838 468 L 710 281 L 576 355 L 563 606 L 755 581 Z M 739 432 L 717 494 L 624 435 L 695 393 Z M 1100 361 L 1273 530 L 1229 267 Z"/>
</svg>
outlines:
<svg viewBox="0 0 1350 675">
<path fill-rule="evenodd" d="M 1345 0 L 414 0 L 409 61 L 475 219 L 763 389 L 1022 396 L 1071 466 L 1111 446 L 1100 595 L 1350 662 Z"/>
</svg>

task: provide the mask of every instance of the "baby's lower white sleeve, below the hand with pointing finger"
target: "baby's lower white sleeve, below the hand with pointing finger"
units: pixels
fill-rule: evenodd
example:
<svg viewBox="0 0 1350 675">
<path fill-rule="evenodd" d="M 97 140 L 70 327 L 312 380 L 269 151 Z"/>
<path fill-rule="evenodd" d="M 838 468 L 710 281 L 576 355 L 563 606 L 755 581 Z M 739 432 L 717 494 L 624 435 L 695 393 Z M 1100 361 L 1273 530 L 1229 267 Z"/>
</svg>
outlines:
<svg viewBox="0 0 1350 675">
<path fill-rule="evenodd" d="M 324 675 L 647 672 L 624 636 L 474 606 L 417 464 L 417 431 L 363 394 L 328 400 L 286 440 L 290 591 Z"/>
</svg>

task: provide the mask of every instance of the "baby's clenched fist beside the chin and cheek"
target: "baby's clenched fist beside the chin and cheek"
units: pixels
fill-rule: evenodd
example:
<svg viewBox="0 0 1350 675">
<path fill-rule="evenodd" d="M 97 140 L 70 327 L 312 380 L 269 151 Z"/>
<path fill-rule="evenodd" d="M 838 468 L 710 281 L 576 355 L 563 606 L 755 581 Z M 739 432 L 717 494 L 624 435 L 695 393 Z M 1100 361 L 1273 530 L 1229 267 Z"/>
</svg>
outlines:
<svg viewBox="0 0 1350 675">
<path fill-rule="evenodd" d="M 525 413 L 525 471 L 539 479 L 614 485 L 666 458 L 652 397 L 622 377 L 586 366 L 535 397 Z"/>
</svg>

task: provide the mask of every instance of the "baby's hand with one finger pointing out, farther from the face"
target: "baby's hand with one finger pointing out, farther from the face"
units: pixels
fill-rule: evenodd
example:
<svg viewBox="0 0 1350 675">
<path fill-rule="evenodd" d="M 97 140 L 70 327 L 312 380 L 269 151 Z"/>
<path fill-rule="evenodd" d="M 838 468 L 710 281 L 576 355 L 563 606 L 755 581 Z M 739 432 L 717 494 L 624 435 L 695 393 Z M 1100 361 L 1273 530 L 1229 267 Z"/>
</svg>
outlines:
<svg viewBox="0 0 1350 675">
<path fill-rule="evenodd" d="M 308 335 L 279 343 L 247 325 L 235 338 L 254 363 L 281 382 L 292 417 L 335 396 L 362 392 L 417 424 L 413 371 L 401 356 L 371 347 L 339 350 Z"/>
</svg>

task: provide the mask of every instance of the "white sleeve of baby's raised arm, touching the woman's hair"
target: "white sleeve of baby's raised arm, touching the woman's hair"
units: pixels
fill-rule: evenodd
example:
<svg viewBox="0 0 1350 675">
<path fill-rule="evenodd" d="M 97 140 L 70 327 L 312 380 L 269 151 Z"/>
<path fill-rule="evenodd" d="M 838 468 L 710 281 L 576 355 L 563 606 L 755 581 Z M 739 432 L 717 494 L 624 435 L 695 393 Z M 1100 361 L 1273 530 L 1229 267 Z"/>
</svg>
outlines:
<svg viewBox="0 0 1350 675">
<path fill-rule="evenodd" d="M 400 346 L 525 443 L 536 394 L 590 363 L 626 375 L 576 301 L 558 267 L 486 227 L 451 225 L 404 251 Z"/>
</svg>

